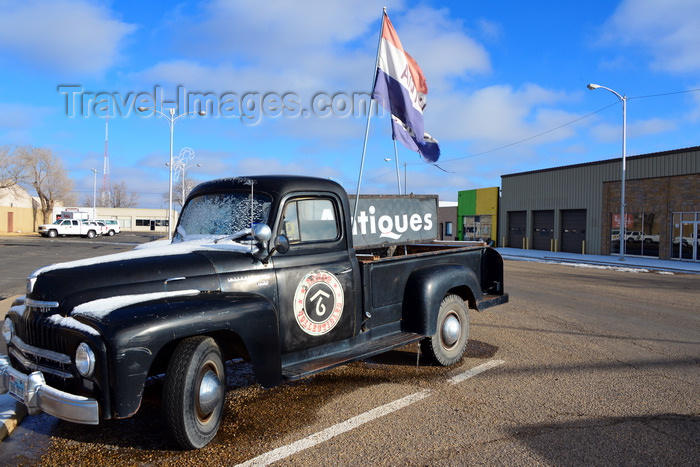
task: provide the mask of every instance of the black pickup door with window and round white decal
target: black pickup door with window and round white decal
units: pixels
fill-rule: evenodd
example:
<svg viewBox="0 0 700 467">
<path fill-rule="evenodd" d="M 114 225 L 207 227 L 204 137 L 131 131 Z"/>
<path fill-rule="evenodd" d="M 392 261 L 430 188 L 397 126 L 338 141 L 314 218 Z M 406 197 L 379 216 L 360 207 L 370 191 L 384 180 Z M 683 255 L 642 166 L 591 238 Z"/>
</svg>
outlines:
<svg viewBox="0 0 700 467">
<path fill-rule="evenodd" d="M 289 198 L 281 210 L 277 234 L 290 242 L 289 251 L 273 256 L 282 354 L 355 333 L 358 268 L 341 212 L 332 195 Z"/>
</svg>

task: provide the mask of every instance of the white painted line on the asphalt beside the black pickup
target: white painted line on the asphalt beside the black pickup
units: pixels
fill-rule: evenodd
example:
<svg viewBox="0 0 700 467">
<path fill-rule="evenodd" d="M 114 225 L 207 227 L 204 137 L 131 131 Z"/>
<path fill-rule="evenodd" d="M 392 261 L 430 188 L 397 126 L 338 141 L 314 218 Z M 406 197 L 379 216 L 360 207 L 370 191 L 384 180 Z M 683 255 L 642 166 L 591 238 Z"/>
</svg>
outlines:
<svg viewBox="0 0 700 467">
<path fill-rule="evenodd" d="M 489 360 L 486 363 L 483 363 L 477 367 L 465 371 L 464 373 L 460 373 L 459 375 L 452 377 L 449 380 L 449 382 L 452 384 L 461 383 L 462 381 L 471 378 L 472 376 L 476 376 L 479 373 L 483 373 L 486 370 L 497 367 L 502 363 L 504 363 L 503 360 Z M 404 407 L 408 407 L 414 402 L 418 402 L 420 400 L 425 399 L 431 394 L 431 392 L 432 391 L 430 389 L 414 392 L 413 394 L 410 394 L 406 397 L 395 400 L 393 402 L 389 402 L 388 404 L 384 404 L 368 412 L 360 414 L 356 417 L 350 418 L 344 422 L 338 423 L 337 425 L 333 425 L 332 427 L 326 428 L 325 430 L 319 431 L 318 433 L 314 433 L 313 435 L 308 436 L 304 439 L 295 441 L 292 444 L 288 444 L 286 446 L 279 447 L 272 451 L 268 451 L 265 454 L 261 454 L 258 457 L 254 457 L 253 459 L 243 462 L 242 464 L 238 464 L 237 467 L 261 466 L 277 462 L 279 460 L 291 456 L 292 454 L 296 454 L 297 452 L 303 451 L 304 449 L 316 446 L 317 444 L 321 444 L 324 441 L 328 441 L 329 439 L 334 438 L 342 433 L 353 430 L 358 426 L 364 425 L 365 423 L 369 423 L 372 420 L 376 420 L 377 418 L 383 417 L 384 415 L 388 415 Z"/>
</svg>

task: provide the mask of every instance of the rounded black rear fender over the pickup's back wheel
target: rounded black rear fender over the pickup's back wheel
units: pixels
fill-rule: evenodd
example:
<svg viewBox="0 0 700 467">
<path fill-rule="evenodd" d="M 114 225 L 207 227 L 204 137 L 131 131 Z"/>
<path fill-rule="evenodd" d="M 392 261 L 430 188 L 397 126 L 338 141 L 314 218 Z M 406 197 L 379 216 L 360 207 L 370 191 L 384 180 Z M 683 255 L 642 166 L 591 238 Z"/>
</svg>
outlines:
<svg viewBox="0 0 700 467">
<path fill-rule="evenodd" d="M 425 336 L 435 334 L 440 303 L 450 290 L 470 303 L 482 297 L 476 273 L 463 265 L 436 264 L 413 271 L 404 294 L 405 331 Z"/>
</svg>

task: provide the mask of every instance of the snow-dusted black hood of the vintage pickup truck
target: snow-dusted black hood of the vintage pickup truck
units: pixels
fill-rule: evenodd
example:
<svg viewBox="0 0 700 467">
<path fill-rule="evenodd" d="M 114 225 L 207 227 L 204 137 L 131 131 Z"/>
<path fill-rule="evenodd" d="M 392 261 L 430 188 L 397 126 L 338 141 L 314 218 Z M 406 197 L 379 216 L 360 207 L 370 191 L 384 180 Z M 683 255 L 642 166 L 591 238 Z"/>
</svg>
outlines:
<svg viewBox="0 0 700 467">
<path fill-rule="evenodd" d="M 243 259 L 242 253 L 240 245 L 235 244 L 166 243 L 54 264 L 29 276 L 31 292 L 28 290 L 27 298 L 43 302 L 37 306 L 56 308 L 54 312 L 68 316 L 81 304 L 106 297 L 121 297 L 125 303 L 133 303 L 149 297 L 218 291 L 221 271 L 216 258 L 224 255 Z M 246 261 L 250 265 L 249 258 Z"/>
</svg>

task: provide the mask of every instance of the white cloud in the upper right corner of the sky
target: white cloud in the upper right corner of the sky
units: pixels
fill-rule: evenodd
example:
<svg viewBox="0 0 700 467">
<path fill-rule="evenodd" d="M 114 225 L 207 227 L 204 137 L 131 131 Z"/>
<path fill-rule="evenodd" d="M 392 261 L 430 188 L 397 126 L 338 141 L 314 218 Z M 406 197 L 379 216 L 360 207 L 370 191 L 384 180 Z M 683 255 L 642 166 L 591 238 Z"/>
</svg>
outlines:
<svg viewBox="0 0 700 467">
<path fill-rule="evenodd" d="M 603 42 L 646 49 L 655 70 L 696 72 L 700 70 L 700 2 L 623 0 L 604 27 Z"/>
</svg>

